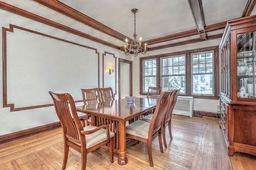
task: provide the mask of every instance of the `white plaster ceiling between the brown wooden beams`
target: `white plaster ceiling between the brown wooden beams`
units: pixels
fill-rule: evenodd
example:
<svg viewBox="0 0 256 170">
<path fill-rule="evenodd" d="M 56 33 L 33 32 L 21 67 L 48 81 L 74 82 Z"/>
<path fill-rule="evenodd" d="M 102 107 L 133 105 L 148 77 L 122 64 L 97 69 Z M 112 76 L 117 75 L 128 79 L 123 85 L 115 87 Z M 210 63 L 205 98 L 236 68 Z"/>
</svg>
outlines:
<svg viewBox="0 0 256 170">
<path fill-rule="evenodd" d="M 124 40 L 118 40 L 81 22 L 68 18 L 36 0 L 0 0 L 22 10 L 47 18 L 64 26 L 84 32 L 94 38 L 123 46 Z M 42 0 L 43 1 L 43 0 Z M 55 0 L 56 1 L 56 0 Z M 136 13 L 136 33 L 142 41 L 162 38 L 181 32 L 195 30 L 196 22 L 188 0 L 59 0 L 78 12 L 104 24 L 112 30 L 132 39 L 134 33 L 133 8 Z M 190 0 L 194 1 L 194 0 Z M 205 27 L 242 17 L 248 0 L 199 0 L 202 3 Z M 0 13 L 1 17 L 4 12 Z M 8 13 L 6 13 L 7 15 Z M 26 23 L 28 24 L 28 23 Z M 100 26 L 99 26 L 100 27 Z M 222 34 L 224 28 L 208 32 L 207 36 Z M 176 40 L 154 43 L 148 47 L 157 47 L 170 43 L 200 38 L 198 35 Z"/>
</svg>

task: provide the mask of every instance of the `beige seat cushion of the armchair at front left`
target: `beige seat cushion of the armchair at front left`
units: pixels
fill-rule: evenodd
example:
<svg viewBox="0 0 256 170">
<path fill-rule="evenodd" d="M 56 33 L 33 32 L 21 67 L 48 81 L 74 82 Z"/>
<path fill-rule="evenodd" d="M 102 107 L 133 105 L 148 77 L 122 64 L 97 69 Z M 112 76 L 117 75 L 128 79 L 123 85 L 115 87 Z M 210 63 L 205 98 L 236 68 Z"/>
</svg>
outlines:
<svg viewBox="0 0 256 170">
<path fill-rule="evenodd" d="M 90 125 L 90 126 L 84 127 L 84 130 L 92 130 L 94 128 L 97 128 L 97 127 Z M 111 131 L 109 134 L 110 134 L 110 138 L 115 135 Z M 86 139 L 86 148 L 90 148 L 90 147 L 106 140 L 107 139 L 107 131 L 106 131 L 106 129 L 102 128 L 92 134 L 86 134 L 85 139 Z"/>
</svg>

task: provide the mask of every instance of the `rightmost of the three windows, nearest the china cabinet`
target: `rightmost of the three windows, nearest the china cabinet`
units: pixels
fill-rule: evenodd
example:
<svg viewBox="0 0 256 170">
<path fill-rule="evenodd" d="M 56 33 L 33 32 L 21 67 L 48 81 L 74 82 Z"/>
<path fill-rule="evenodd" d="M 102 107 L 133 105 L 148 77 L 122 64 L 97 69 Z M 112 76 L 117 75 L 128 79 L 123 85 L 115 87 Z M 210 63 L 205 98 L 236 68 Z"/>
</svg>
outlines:
<svg viewBox="0 0 256 170">
<path fill-rule="evenodd" d="M 214 51 L 192 53 L 192 95 L 213 95 Z"/>
</svg>

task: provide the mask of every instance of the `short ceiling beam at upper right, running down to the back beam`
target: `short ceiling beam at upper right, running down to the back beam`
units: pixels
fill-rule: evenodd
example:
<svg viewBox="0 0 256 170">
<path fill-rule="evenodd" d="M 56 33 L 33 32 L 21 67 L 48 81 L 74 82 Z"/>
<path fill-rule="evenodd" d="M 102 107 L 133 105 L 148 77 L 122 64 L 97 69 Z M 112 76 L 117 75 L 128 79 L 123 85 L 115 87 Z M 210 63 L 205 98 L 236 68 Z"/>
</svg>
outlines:
<svg viewBox="0 0 256 170">
<path fill-rule="evenodd" d="M 204 31 L 205 22 L 204 22 L 202 1 L 201 0 L 188 0 L 188 3 L 190 5 L 191 12 L 194 16 L 194 20 L 196 22 L 196 28 L 198 30 L 200 38 L 202 41 L 204 41 L 204 40 L 206 40 L 207 35 Z"/>
</svg>

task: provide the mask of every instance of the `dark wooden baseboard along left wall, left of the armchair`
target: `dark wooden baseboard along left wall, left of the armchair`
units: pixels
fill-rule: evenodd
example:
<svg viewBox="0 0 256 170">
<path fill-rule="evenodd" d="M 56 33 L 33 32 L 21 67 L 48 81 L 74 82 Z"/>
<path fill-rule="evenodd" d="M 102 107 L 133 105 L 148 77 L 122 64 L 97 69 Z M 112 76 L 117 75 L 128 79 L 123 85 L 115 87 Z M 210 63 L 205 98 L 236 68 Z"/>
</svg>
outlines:
<svg viewBox="0 0 256 170">
<path fill-rule="evenodd" d="M 10 134 L 4 134 L 4 135 L 0 136 L 0 144 L 12 142 L 12 141 L 18 140 L 20 138 L 25 138 L 28 136 L 39 134 L 39 133 L 42 133 L 42 132 L 45 132 L 48 130 L 52 130 L 55 128 L 59 128 L 59 127 L 61 127 L 60 122 L 56 122 L 56 123 L 51 123 L 48 125 L 43 125 L 40 127 L 34 127 L 34 128 L 26 129 L 26 130 L 21 130 L 21 131 L 10 133 Z"/>
</svg>

